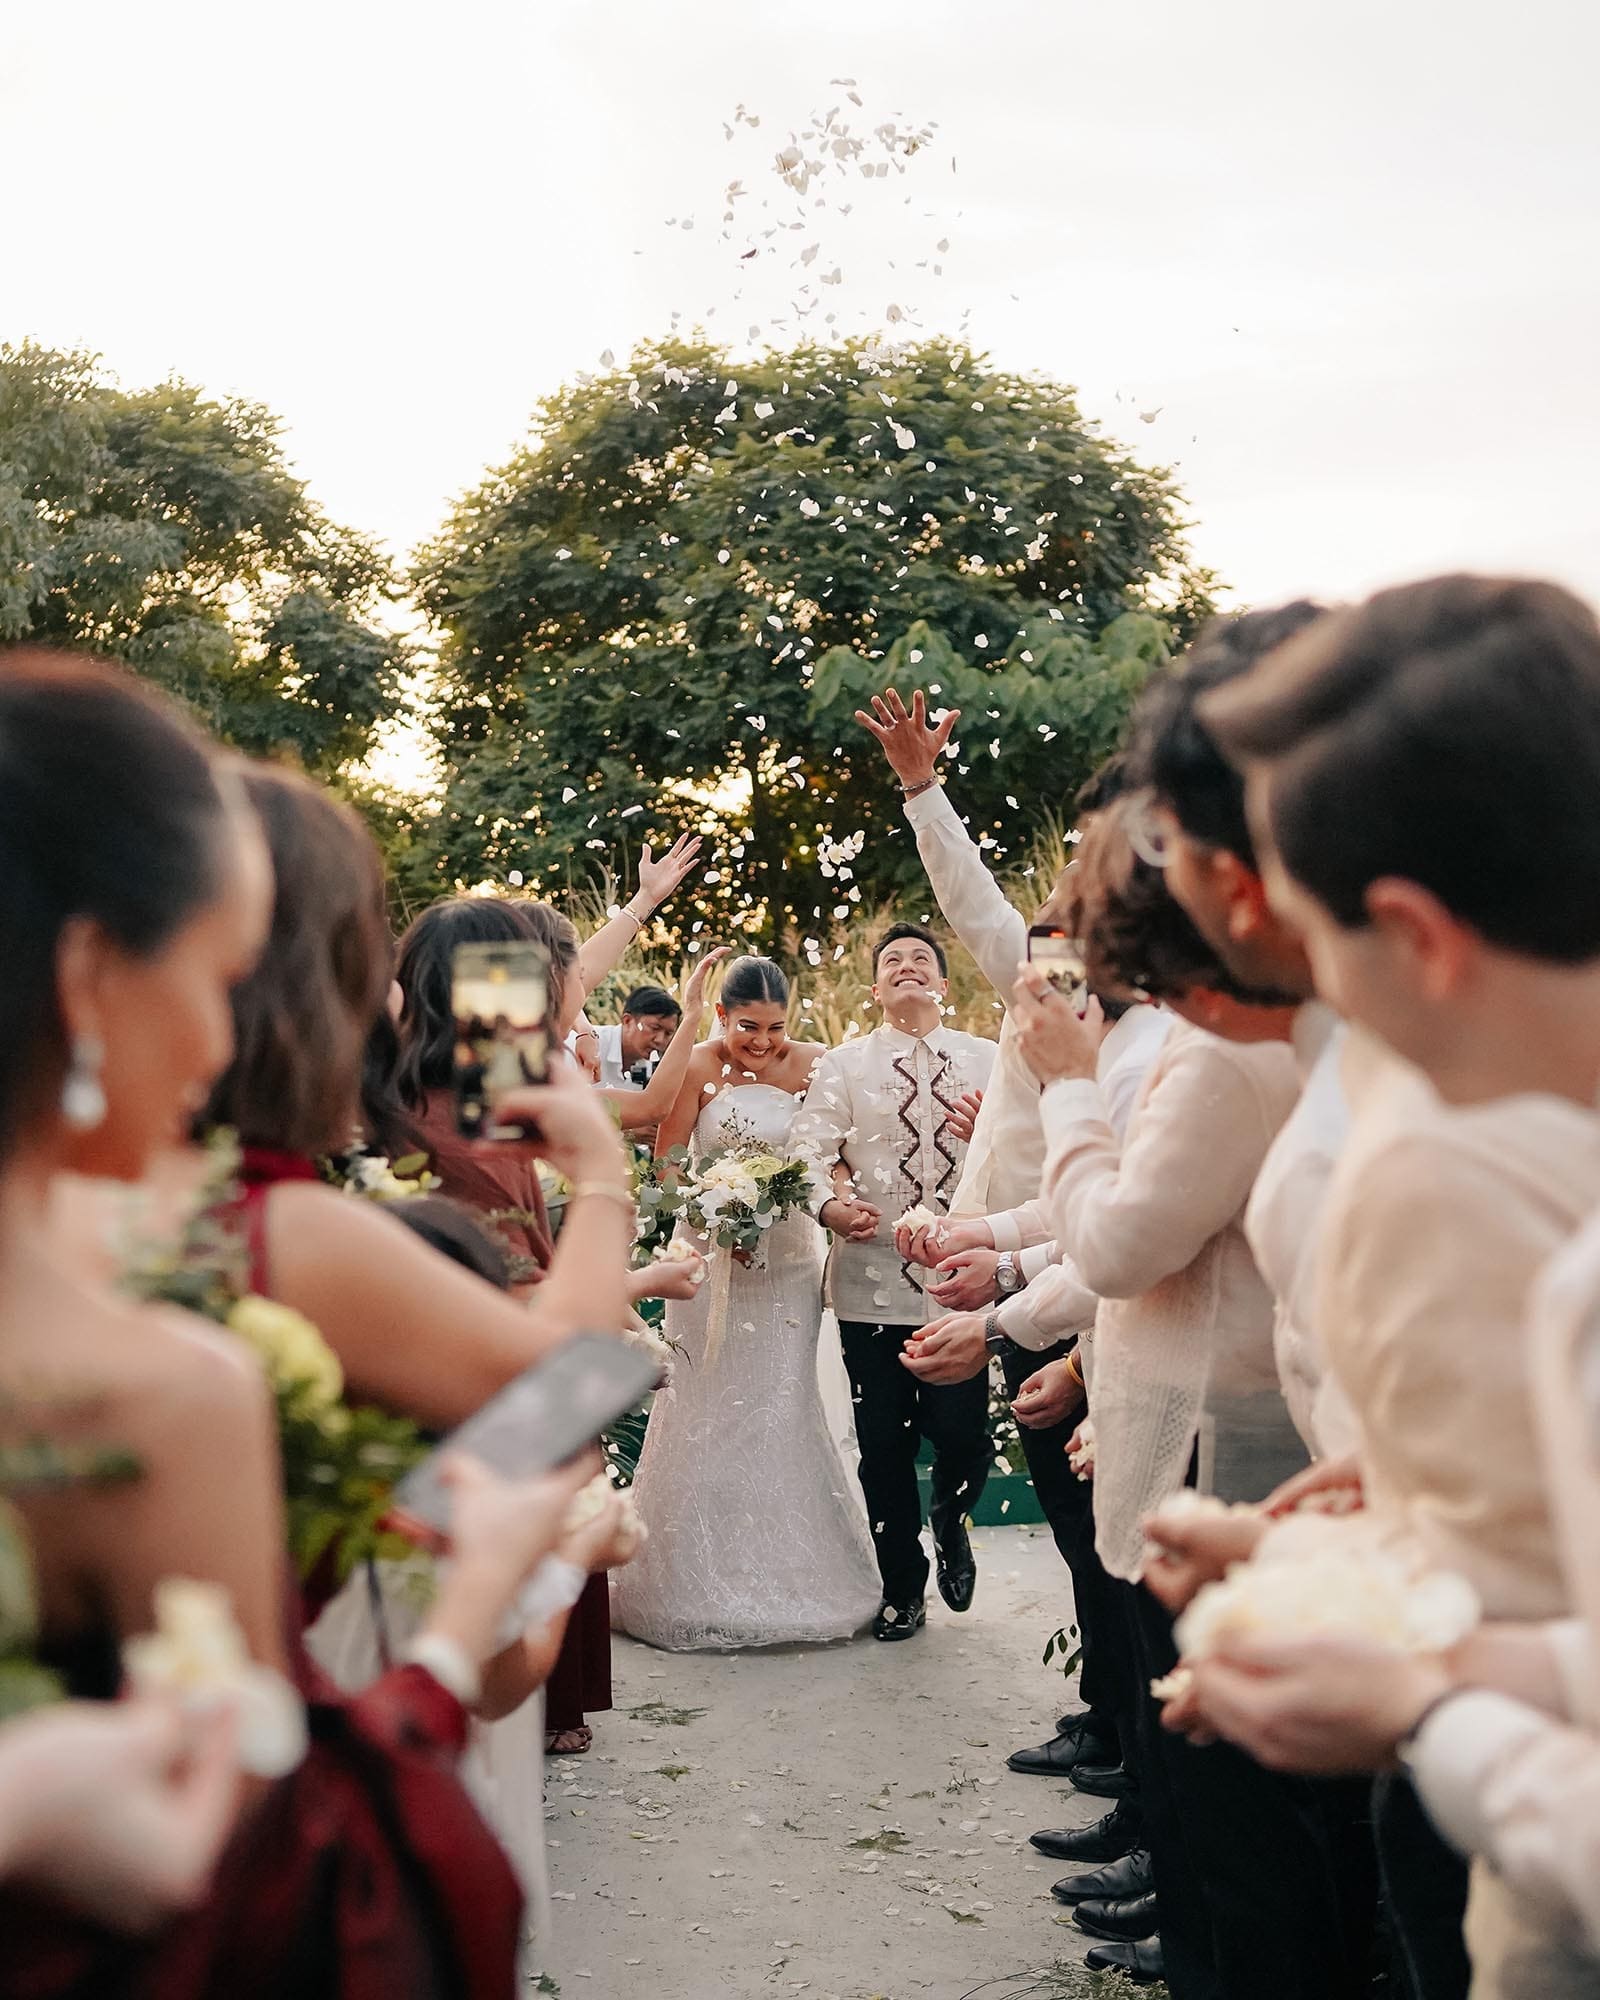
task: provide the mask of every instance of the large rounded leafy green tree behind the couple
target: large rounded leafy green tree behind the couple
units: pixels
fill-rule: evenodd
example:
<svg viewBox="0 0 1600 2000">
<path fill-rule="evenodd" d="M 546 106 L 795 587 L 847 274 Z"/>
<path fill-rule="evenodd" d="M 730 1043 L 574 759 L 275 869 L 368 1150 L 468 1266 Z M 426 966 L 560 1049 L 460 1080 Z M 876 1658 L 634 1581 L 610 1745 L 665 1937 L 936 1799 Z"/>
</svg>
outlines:
<svg viewBox="0 0 1600 2000">
<path fill-rule="evenodd" d="M 830 840 L 866 832 L 868 900 L 916 866 L 852 720 L 874 686 L 958 700 L 964 808 L 1026 834 L 1208 582 L 1170 476 L 1054 382 L 946 342 L 740 366 L 642 348 L 552 396 L 422 554 L 450 780 L 434 874 L 626 872 L 636 838 L 702 826 L 724 922 L 814 930 L 840 894 Z"/>
</svg>

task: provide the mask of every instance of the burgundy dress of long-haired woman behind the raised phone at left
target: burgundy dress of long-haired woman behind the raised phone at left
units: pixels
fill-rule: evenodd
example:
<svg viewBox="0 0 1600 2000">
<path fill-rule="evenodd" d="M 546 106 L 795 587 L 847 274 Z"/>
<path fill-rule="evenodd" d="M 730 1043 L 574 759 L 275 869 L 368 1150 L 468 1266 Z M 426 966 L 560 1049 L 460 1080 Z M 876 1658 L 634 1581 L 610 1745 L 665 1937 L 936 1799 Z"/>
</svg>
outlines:
<svg viewBox="0 0 1600 2000">
<path fill-rule="evenodd" d="M 484 1218 L 498 1214 L 494 1228 L 508 1246 L 532 1258 L 540 1272 L 552 1254 L 550 1220 L 532 1146 L 496 1140 L 464 1140 L 456 1132 L 456 1102 L 450 1090 L 430 1090 L 418 1120 L 428 1158 L 444 1194 L 476 1208 Z M 518 1210 L 512 1220 L 504 1210 Z M 544 1684 L 544 1726 L 576 1730 L 584 1716 L 612 1706 L 612 1598 L 606 1576 L 590 1576 L 566 1622 L 566 1636 L 550 1680 Z"/>
</svg>

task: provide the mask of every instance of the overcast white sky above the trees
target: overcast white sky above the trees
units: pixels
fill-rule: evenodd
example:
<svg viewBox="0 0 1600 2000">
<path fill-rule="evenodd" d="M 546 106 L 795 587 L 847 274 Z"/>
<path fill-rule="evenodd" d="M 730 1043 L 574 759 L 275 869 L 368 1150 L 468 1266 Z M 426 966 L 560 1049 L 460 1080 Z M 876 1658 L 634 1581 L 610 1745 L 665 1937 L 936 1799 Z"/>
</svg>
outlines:
<svg viewBox="0 0 1600 2000">
<path fill-rule="evenodd" d="M 768 140 L 854 76 L 860 124 L 940 130 L 816 214 L 840 324 L 970 312 L 996 362 L 1078 384 L 1178 466 L 1244 600 L 1442 566 L 1600 596 L 1592 0 L 8 12 L 0 336 L 268 402 L 396 550 L 604 348 L 780 310 L 760 276 L 734 302 L 720 192 L 792 214 Z M 740 102 L 762 128 L 730 146 Z"/>
</svg>

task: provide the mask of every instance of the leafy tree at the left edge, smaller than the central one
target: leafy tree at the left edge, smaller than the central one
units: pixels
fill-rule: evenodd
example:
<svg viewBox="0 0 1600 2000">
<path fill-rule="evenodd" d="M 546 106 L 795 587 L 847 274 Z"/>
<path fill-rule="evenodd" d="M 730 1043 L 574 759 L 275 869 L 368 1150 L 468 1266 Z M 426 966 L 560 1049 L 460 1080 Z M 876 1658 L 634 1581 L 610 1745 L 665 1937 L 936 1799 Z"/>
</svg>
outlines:
<svg viewBox="0 0 1600 2000">
<path fill-rule="evenodd" d="M 278 428 L 254 402 L 0 346 L 0 638 L 114 654 L 254 754 L 360 758 L 398 700 L 394 578 L 306 498 Z"/>
</svg>

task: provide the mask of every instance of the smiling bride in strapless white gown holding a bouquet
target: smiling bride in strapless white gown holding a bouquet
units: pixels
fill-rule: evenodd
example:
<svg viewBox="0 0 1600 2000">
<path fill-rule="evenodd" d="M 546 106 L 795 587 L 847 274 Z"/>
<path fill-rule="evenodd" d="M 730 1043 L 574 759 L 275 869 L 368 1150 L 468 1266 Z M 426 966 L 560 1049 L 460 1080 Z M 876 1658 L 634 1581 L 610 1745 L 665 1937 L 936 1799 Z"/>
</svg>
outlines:
<svg viewBox="0 0 1600 2000">
<path fill-rule="evenodd" d="M 658 1152 L 688 1144 L 704 1156 L 750 1138 L 786 1152 L 822 1054 L 788 1038 L 788 998 L 770 958 L 734 960 L 718 1034 L 694 1052 Z M 734 1262 L 724 1334 L 708 1360 L 712 1290 L 714 1280 L 666 1308 L 680 1352 L 634 1478 L 650 1540 L 616 1580 L 616 1624 L 674 1652 L 848 1638 L 872 1618 L 880 1590 L 818 1390 L 816 1224 L 784 1216 L 756 1264 Z"/>
</svg>

